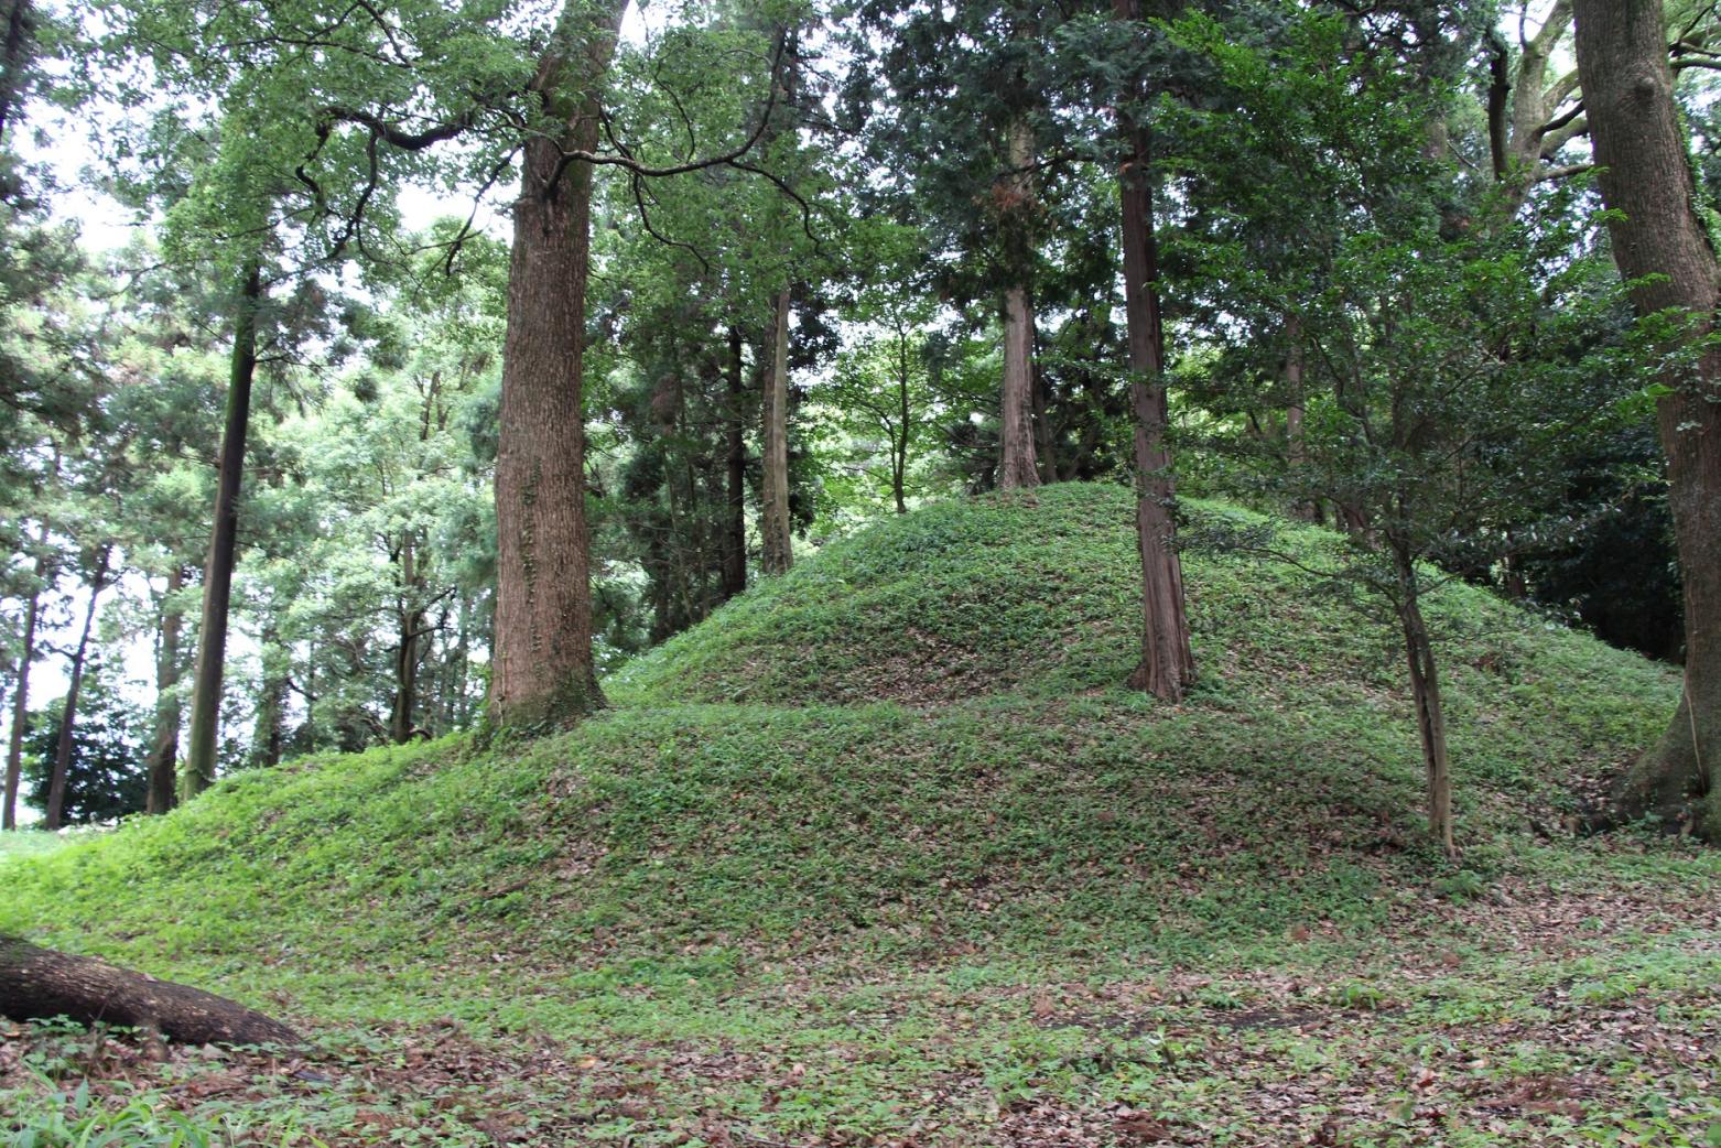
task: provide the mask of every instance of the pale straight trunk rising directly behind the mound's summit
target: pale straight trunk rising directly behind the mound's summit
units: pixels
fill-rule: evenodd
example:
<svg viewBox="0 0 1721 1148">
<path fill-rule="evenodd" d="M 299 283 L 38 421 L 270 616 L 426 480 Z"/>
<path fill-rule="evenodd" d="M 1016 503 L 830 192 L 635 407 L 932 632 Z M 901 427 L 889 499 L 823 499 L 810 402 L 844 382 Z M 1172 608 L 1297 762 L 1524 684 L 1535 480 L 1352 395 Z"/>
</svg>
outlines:
<svg viewBox="0 0 1721 1148">
<path fill-rule="evenodd" d="M 1034 129 L 1026 117 L 1009 126 L 1010 174 L 1003 181 L 1003 203 L 1015 215 L 1007 227 L 1027 231 L 1034 200 Z M 1026 234 L 1014 246 L 1017 282 L 1003 293 L 1003 384 L 998 396 L 1000 446 L 998 487 L 1015 491 L 1039 485 L 1039 461 L 1034 458 L 1034 310 L 1029 301 Z"/>
</svg>

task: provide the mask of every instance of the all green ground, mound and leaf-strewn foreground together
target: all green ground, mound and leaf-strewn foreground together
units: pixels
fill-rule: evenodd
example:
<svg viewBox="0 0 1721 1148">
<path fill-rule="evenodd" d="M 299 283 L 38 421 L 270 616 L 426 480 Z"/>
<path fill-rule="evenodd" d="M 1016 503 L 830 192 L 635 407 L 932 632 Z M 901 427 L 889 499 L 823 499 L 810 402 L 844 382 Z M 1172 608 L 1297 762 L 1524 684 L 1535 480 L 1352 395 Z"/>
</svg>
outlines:
<svg viewBox="0 0 1721 1148">
<path fill-rule="evenodd" d="M 1177 707 L 1117 687 L 1129 492 L 1050 487 L 826 547 L 573 731 L 7 847 L 0 931 L 312 1045 L 0 1026 L 0 1145 L 1721 1148 L 1721 850 L 1563 828 L 1676 675 L 1442 590 L 1453 862 L 1382 626 L 1186 573 Z"/>
</svg>

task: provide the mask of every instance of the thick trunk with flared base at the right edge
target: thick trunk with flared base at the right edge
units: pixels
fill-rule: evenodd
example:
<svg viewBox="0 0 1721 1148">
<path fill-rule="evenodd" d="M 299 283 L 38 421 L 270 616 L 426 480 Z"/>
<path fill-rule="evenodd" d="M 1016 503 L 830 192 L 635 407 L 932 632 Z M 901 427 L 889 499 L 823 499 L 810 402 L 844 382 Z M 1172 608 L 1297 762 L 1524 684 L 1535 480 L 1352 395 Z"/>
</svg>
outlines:
<svg viewBox="0 0 1721 1148">
<path fill-rule="evenodd" d="M 1578 72 L 1614 262 L 1640 315 L 1714 330 L 1721 268 L 1699 215 L 1659 0 L 1576 0 Z M 1685 580 L 1685 692 L 1661 744 L 1625 778 L 1621 812 L 1678 816 L 1700 797 L 1697 830 L 1721 842 L 1721 351 L 1668 379 L 1657 401 L 1668 503 Z"/>
</svg>

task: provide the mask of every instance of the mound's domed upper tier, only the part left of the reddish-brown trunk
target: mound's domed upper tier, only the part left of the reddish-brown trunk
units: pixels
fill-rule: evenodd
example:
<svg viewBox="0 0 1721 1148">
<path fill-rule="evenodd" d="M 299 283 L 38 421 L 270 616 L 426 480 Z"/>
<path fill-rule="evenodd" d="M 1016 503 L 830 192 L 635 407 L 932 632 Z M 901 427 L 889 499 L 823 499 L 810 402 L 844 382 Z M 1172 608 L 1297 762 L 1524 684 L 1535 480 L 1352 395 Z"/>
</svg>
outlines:
<svg viewBox="0 0 1721 1148">
<path fill-rule="evenodd" d="M 606 683 L 640 702 L 947 702 L 1131 670 L 1129 491 L 1070 484 L 881 522 Z"/>
</svg>

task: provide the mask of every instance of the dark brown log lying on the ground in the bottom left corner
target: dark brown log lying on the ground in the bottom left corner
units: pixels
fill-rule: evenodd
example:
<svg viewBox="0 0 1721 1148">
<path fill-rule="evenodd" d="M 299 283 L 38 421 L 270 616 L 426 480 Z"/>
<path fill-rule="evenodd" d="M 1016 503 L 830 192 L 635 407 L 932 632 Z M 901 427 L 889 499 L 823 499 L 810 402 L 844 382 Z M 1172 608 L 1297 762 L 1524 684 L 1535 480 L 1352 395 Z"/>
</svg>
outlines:
<svg viewBox="0 0 1721 1148">
<path fill-rule="evenodd" d="M 0 1015 L 153 1029 L 188 1045 L 303 1045 L 291 1028 L 201 988 L 0 936 Z"/>
</svg>

